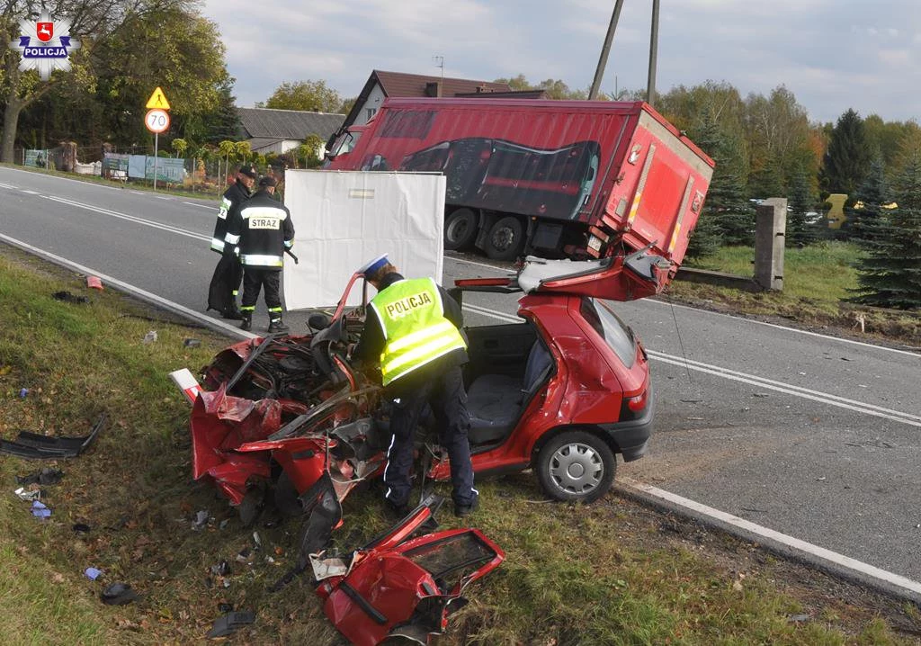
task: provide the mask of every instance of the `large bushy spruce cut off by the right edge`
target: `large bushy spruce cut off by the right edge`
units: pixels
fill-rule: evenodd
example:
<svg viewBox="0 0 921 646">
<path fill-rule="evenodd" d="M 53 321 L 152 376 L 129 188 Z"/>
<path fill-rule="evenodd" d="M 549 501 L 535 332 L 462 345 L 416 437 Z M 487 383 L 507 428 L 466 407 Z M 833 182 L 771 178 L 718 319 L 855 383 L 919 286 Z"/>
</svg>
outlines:
<svg viewBox="0 0 921 646">
<path fill-rule="evenodd" d="M 910 151 L 893 182 L 898 206 L 862 223 L 870 234 L 857 261 L 857 296 L 867 305 L 921 309 L 921 148 Z"/>
</svg>

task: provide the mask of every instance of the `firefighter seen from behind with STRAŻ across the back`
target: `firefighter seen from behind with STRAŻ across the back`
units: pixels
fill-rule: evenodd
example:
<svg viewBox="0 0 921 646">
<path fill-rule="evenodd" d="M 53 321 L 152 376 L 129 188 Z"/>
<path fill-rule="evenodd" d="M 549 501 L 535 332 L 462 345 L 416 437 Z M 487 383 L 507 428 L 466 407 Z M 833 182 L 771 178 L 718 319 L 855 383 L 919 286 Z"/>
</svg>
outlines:
<svg viewBox="0 0 921 646">
<path fill-rule="evenodd" d="M 287 208 L 274 198 L 274 177 L 263 177 L 259 191 L 227 214 L 225 242 L 239 248 L 243 265 L 243 300 L 239 310 L 243 330 L 252 329 L 252 312 L 259 292 L 265 289 L 269 310 L 269 332 L 287 332 L 282 321 L 282 300 L 278 294 L 285 250 L 294 246 L 294 224 Z"/>
</svg>

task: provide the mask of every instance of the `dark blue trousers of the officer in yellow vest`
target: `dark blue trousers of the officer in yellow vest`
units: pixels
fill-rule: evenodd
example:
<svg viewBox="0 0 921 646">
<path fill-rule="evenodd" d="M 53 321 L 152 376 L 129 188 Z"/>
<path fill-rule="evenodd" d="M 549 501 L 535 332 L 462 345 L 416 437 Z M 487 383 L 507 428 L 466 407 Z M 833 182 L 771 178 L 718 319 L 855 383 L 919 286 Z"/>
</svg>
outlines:
<svg viewBox="0 0 921 646">
<path fill-rule="evenodd" d="M 410 373 L 388 388 L 391 397 L 391 432 L 393 439 L 387 452 L 384 470 L 386 498 L 395 507 L 409 502 L 413 469 L 413 435 L 426 404 L 432 407 L 437 424 L 439 443 L 448 451 L 451 465 L 451 497 L 454 504 L 472 505 L 476 499 L 473 488 L 473 467 L 470 461 L 470 414 L 467 411 L 467 393 L 463 387 L 461 368 L 448 370 L 418 370 Z"/>
</svg>

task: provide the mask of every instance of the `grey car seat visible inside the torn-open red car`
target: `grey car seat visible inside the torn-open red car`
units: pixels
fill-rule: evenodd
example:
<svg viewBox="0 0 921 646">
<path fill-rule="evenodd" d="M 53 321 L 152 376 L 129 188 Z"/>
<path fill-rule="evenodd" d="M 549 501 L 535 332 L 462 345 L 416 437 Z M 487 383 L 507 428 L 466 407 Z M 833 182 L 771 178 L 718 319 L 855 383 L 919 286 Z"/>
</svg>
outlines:
<svg viewBox="0 0 921 646">
<path fill-rule="evenodd" d="M 540 339 L 530 346 L 522 378 L 484 374 L 470 384 L 467 409 L 470 411 L 472 445 L 505 439 L 518 423 L 521 407 L 543 382 L 554 360 Z"/>
</svg>

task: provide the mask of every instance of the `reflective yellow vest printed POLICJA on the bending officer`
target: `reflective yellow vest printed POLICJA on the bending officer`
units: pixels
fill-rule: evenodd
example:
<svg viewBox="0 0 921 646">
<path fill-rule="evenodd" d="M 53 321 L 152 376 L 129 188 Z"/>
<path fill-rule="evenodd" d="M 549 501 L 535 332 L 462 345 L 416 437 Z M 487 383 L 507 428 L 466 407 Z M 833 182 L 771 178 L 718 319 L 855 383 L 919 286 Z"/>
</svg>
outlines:
<svg viewBox="0 0 921 646">
<path fill-rule="evenodd" d="M 445 318 L 441 293 L 431 278 L 393 283 L 370 306 L 384 332 L 380 374 L 385 386 L 451 350 L 467 347 L 454 323 Z"/>
</svg>

